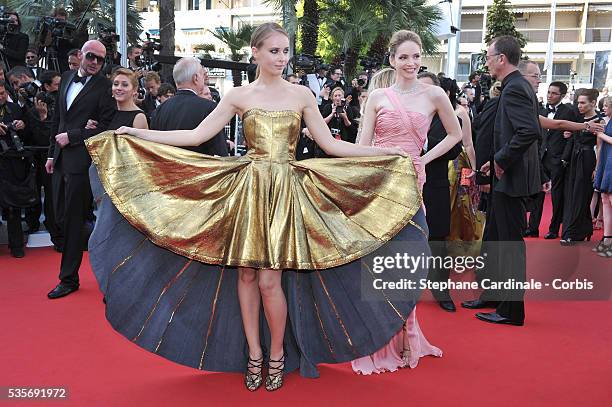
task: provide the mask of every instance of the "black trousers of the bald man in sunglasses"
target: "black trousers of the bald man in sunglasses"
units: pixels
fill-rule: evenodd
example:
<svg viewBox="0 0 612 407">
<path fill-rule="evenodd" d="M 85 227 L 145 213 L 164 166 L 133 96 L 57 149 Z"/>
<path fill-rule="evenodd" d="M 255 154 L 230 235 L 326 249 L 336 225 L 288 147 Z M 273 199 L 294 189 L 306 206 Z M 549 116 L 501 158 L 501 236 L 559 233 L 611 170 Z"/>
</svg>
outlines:
<svg viewBox="0 0 612 407">
<path fill-rule="evenodd" d="M 93 220 L 88 174 L 69 174 L 55 168 L 53 196 L 55 216 L 64 234 L 59 278 L 64 285 L 78 287 L 79 267 L 90 229 L 88 222 Z"/>
</svg>

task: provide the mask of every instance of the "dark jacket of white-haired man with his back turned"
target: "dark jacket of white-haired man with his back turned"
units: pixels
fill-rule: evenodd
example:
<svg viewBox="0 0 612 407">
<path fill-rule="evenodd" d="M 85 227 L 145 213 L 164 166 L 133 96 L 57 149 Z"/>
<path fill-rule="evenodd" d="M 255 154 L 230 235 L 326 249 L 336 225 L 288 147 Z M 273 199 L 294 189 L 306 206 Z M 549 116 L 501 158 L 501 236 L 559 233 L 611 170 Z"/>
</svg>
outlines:
<svg viewBox="0 0 612 407">
<path fill-rule="evenodd" d="M 151 118 L 153 130 L 193 130 L 217 106 L 215 102 L 203 99 L 190 90 L 179 90 L 176 95 L 159 105 Z M 227 142 L 224 131 L 197 147 L 188 150 L 202 154 L 227 156 Z"/>
</svg>

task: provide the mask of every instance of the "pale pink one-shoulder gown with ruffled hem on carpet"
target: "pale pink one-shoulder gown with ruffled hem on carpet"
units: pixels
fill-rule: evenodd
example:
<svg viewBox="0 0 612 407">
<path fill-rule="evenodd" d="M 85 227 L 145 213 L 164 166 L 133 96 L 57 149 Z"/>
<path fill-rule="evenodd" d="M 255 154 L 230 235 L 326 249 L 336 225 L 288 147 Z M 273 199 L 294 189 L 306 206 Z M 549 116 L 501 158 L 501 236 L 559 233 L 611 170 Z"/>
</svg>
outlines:
<svg viewBox="0 0 612 407">
<path fill-rule="evenodd" d="M 421 163 L 421 151 L 427 140 L 431 118 L 419 112 L 406 111 L 393 90 L 387 88 L 385 94 L 394 109 L 382 108 L 378 111 L 374 127 L 374 145 L 400 147 L 410 154 L 422 191 L 425 184 L 425 167 Z M 431 345 L 423 335 L 415 307 L 402 329 L 385 347 L 372 355 L 355 359 L 351 364 L 353 371 L 366 375 L 394 372 L 402 367 L 415 368 L 419 359 L 428 355 L 440 357 L 442 351 Z"/>
</svg>

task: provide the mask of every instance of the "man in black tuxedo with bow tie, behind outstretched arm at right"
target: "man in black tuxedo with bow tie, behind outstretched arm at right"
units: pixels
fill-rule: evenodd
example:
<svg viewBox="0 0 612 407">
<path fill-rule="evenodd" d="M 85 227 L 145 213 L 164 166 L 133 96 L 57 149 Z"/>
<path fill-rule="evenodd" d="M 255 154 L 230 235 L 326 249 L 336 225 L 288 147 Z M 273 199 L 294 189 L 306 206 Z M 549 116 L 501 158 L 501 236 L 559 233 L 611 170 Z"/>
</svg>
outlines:
<svg viewBox="0 0 612 407">
<path fill-rule="evenodd" d="M 570 105 L 561 103 L 567 86 L 563 82 L 552 82 L 548 86 L 546 114 L 555 120 L 568 120 L 578 122 L 578 115 Z M 561 156 L 567 144 L 567 138 L 563 130 L 548 130 L 542 145 L 542 164 L 552 181 L 551 198 L 553 214 L 550 220 L 548 233 L 545 239 L 556 239 L 559 237 L 559 227 L 563 219 L 563 184 L 565 181 L 565 170 L 561 164 Z"/>
</svg>

